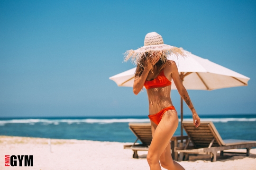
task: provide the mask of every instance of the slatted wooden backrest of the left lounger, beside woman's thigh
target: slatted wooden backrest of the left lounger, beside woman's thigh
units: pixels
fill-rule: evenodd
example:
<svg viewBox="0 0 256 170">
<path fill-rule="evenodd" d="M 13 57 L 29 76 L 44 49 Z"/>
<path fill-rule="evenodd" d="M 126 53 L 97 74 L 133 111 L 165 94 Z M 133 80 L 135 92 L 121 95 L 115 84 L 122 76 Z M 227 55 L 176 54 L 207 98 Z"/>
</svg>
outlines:
<svg viewBox="0 0 256 170">
<path fill-rule="evenodd" d="M 129 123 L 129 128 L 142 144 L 146 146 L 151 144 L 152 132 L 150 123 Z"/>
</svg>

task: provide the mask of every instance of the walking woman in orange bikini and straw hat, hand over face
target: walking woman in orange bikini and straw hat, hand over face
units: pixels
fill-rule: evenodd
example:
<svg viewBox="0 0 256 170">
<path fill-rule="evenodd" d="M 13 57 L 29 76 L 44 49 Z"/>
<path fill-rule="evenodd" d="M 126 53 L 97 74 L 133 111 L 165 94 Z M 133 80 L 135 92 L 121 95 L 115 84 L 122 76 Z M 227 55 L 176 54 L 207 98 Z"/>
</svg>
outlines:
<svg viewBox="0 0 256 170">
<path fill-rule="evenodd" d="M 162 36 L 155 32 L 146 34 L 144 47 L 126 52 L 125 60 L 133 59 L 137 64 L 133 92 L 137 95 L 145 86 L 148 95 L 148 117 L 153 136 L 146 157 L 150 170 L 161 170 L 161 166 L 168 170 L 184 170 L 171 156 L 170 140 L 179 123 L 170 96 L 172 79 L 192 111 L 195 127 L 200 125 L 200 118 L 180 80 L 176 63 L 167 60 L 167 55 L 185 56 L 181 49 L 164 44 Z"/>
</svg>

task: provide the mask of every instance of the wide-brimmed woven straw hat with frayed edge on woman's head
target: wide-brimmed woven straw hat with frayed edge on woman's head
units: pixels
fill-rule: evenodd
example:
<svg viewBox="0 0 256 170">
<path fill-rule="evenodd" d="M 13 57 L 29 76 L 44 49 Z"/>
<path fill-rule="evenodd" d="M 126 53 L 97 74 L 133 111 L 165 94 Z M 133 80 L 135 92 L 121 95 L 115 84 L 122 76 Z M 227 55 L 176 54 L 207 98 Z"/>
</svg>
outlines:
<svg viewBox="0 0 256 170">
<path fill-rule="evenodd" d="M 137 50 L 128 50 L 125 52 L 124 61 L 128 61 L 128 59 L 130 59 L 132 63 L 136 65 L 140 64 L 139 60 L 143 57 L 146 57 L 145 52 L 156 52 L 161 56 L 161 60 L 166 60 L 167 55 L 176 57 L 185 56 L 185 53 L 182 49 L 164 44 L 162 36 L 157 34 L 156 32 L 152 32 L 146 34 L 143 47 L 140 47 Z M 154 55 L 151 56 L 154 57 Z"/>
</svg>

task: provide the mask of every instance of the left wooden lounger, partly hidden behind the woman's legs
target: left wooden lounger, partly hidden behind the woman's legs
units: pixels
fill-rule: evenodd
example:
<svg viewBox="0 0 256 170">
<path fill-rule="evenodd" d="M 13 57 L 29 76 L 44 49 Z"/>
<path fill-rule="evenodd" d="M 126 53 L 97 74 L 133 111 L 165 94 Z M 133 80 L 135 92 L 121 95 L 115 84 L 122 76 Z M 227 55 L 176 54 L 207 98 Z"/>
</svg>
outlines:
<svg viewBox="0 0 256 170">
<path fill-rule="evenodd" d="M 148 151 L 152 141 L 151 123 L 129 123 L 129 129 L 137 137 L 133 144 L 124 145 L 124 149 L 133 150 L 133 158 L 138 158 L 137 151 Z M 140 140 L 142 144 L 136 144 Z M 174 152 L 174 148 L 179 144 L 179 141 L 188 141 L 188 136 L 173 136 L 171 138 L 171 150 L 174 160 L 178 159 L 178 153 Z"/>
</svg>

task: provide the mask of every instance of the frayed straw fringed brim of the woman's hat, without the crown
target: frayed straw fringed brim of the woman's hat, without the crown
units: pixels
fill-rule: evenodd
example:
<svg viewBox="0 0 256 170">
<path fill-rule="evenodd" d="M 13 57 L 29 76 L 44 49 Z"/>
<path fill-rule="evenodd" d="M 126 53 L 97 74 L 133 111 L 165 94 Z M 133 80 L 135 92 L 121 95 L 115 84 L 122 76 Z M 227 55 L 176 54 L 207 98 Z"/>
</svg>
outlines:
<svg viewBox="0 0 256 170">
<path fill-rule="evenodd" d="M 152 50 L 152 48 L 148 48 L 149 50 L 146 50 L 146 51 L 128 50 L 124 53 L 124 62 L 127 62 L 128 60 L 131 60 L 131 62 L 134 65 L 140 65 L 141 67 L 144 67 L 143 65 L 140 64 L 139 61 L 140 61 L 141 58 L 146 57 L 145 52 L 148 52 L 150 54 L 156 52 L 157 55 L 155 55 L 155 56 L 160 55 L 161 60 L 166 60 L 166 56 L 168 56 L 168 55 L 171 56 L 171 57 L 177 57 L 177 58 L 186 56 L 186 52 L 183 51 L 182 48 L 177 48 L 177 47 L 174 47 L 174 46 L 171 46 L 171 47 L 172 48 L 165 49 L 165 50 L 163 50 L 163 49 L 154 49 L 154 50 Z"/>
</svg>

